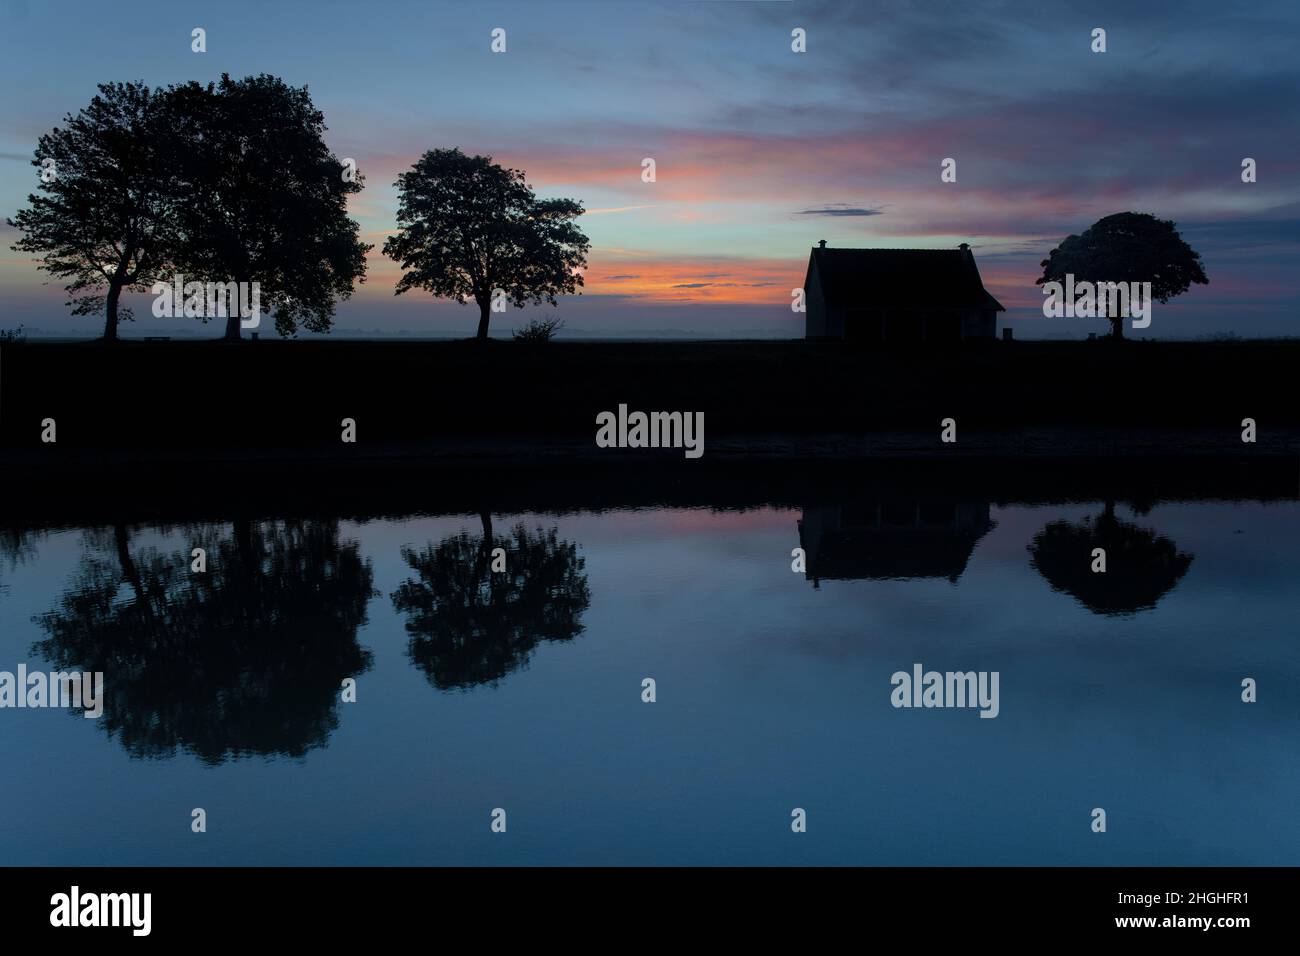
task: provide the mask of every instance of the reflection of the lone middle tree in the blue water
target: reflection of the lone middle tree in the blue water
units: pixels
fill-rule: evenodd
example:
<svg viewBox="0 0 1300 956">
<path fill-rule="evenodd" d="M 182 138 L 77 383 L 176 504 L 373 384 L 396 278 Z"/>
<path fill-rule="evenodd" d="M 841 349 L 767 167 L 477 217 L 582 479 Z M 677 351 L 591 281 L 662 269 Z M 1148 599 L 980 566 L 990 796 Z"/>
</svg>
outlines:
<svg viewBox="0 0 1300 956">
<path fill-rule="evenodd" d="M 419 575 L 393 592 L 407 615 L 412 662 L 438 689 L 495 683 L 524 666 L 540 641 L 582 632 L 592 596 L 577 546 L 555 529 L 516 525 L 511 537 L 460 532 L 424 550 L 402 549 Z M 506 571 L 491 571 L 491 550 L 506 550 Z"/>
</svg>

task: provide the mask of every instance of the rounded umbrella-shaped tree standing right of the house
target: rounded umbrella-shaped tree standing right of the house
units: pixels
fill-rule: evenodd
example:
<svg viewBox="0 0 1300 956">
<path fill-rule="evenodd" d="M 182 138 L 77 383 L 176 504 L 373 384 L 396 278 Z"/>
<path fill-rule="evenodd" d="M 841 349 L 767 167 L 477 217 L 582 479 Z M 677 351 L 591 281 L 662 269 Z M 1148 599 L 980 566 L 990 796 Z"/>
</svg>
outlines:
<svg viewBox="0 0 1300 956">
<path fill-rule="evenodd" d="M 1156 302 L 1169 302 L 1186 293 L 1193 282 L 1206 285 L 1201 254 L 1188 246 L 1170 220 L 1145 212 L 1117 212 L 1084 230 L 1069 235 L 1041 263 L 1036 285 L 1063 282 L 1072 274 L 1078 282 L 1150 282 Z M 1119 303 L 1110 303 L 1110 329 L 1124 337 Z"/>
</svg>

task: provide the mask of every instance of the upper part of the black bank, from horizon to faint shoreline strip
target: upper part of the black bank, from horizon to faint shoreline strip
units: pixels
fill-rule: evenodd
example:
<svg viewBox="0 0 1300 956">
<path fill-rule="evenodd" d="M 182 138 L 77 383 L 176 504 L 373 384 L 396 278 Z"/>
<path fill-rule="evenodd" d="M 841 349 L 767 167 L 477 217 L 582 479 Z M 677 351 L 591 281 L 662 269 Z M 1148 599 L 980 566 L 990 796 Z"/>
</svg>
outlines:
<svg viewBox="0 0 1300 956">
<path fill-rule="evenodd" d="M 1245 450 L 1278 454 L 1300 428 L 1297 369 L 1300 341 L 21 343 L 0 349 L 0 454 L 27 468 L 634 454 L 594 445 L 597 414 L 620 403 L 703 412 L 706 458 L 1235 454 L 1243 418 L 1260 429 Z M 355 445 L 341 441 L 346 418 Z M 944 418 L 958 423 L 957 446 L 939 444 Z M 44 419 L 55 445 L 40 440 Z"/>
</svg>

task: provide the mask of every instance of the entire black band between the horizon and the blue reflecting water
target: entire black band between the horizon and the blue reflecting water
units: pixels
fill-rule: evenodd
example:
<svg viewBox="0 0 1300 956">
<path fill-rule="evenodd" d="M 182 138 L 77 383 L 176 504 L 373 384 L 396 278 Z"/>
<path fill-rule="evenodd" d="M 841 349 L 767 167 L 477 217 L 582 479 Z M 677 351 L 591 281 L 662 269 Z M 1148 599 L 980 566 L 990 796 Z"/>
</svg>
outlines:
<svg viewBox="0 0 1300 956">
<path fill-rule="evenodd" d="M 0 516 L 1295 497 L 1297 367 L 1300 342 L 12 345 Z M 705 457 L 597 449 L 620 403 L 703 411 Z"/>
</svg>

